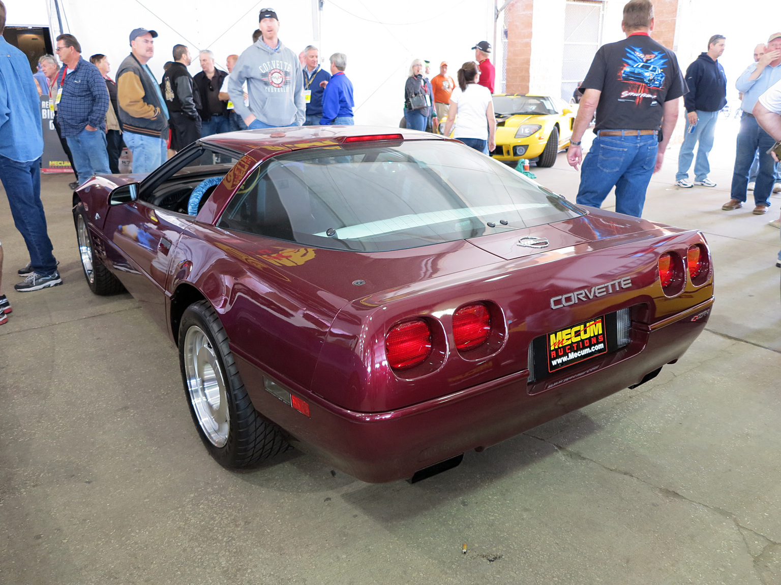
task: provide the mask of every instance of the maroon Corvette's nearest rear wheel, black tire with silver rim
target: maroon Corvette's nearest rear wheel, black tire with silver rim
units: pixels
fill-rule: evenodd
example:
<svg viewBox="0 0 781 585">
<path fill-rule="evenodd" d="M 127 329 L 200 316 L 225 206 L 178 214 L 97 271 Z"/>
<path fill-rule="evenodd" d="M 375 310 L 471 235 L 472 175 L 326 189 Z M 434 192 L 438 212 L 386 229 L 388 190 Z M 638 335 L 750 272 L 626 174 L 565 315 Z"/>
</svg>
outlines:
<svg viewBox="0 0 781 585">
<path fill-rule="evenodd" d="M 179 362 L 195 427 L 217 463 L 251 467 L 289 448 L 280 427 L 252 405 L 228 335 L 208 301 L 193 303 L 182 314 Z"/>
</svg>

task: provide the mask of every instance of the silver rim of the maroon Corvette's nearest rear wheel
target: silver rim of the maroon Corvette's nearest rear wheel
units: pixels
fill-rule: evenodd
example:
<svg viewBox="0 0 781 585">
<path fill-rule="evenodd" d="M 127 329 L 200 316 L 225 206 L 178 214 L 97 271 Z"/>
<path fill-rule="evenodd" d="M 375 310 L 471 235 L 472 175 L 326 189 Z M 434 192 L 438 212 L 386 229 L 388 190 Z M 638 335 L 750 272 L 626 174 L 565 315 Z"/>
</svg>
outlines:
<svg viewBox="0 0 781 585">
<path fill-rule="evenodd" d="M 212 342 L 197 325 L 184 336 L 184 372 L 198 424 L 212 445 L 223 447 L 230 429 L 225 380 Z"/>
</svg>

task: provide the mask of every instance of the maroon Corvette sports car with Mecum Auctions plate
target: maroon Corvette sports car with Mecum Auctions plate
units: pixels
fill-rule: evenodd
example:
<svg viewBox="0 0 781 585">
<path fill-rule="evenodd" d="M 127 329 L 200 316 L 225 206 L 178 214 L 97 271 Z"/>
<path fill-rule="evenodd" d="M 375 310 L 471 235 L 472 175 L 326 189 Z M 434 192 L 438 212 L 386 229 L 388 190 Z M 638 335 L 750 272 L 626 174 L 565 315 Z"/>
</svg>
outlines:
<svg viewBox="0 0 781 585">
<path fill-rule="evenodd" d="M 700 232 L 572 204 L 456 140 L 208 137 L 73 195 L 84 275 L 177 344 L 201 438 L 369 482 L 454 466 L 654 378 L 713 303 Z"/>
</svg>

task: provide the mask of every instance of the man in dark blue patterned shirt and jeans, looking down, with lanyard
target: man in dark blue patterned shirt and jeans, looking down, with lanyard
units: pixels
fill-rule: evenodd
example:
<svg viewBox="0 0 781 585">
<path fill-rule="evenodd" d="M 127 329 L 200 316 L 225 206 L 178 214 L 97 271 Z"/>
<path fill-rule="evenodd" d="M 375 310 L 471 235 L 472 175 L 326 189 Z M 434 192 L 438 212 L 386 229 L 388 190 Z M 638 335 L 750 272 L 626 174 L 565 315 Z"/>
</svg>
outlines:
<svg viewBox="0 0 781 585">
<path fill-rule="evenodd" d="M 59 35 L 57 55 L 64 64 L 57 77 L 59 126 L 73 154 L 79 184 L 83 185 L 94 175 L 111 173 L 105 138 L 105 113 L 111 100 L 98 68 L 81 58 L 76 37 Z"/>
</svg>

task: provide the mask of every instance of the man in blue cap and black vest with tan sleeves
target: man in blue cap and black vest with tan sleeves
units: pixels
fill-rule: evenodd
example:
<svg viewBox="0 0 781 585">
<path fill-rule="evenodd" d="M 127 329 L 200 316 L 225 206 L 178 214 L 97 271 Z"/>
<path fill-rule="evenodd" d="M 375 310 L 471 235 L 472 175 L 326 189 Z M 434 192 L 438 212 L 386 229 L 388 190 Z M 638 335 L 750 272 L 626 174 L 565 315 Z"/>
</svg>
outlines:
<svg viewBox="0 0 781 585">
<path fill-rule="evenodd" d="M 147 62 L 155 55 L 154 30 L 130 32 L 130 55 L 116 73 L 119 121 L 133 154 L 133 172 L 152 172 L 168 158 L 168 108 Z"/>
</svg>

